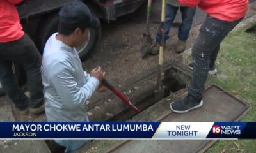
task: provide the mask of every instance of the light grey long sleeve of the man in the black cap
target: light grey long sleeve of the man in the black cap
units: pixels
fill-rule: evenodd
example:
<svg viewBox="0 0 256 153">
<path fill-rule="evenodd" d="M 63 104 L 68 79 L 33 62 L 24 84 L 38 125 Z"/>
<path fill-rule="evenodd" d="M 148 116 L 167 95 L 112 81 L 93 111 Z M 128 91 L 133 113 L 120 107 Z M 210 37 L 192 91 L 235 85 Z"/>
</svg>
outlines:
<svg viewBox="0 0 256 153">
<path fill-rule="evenodd" d="M 52 68 L 54 70 L 51 75 L 51 83 L 58 92 L 61 101 L 68 108 L 76 108 L 84 106 L 87 99 L 98 88 L 99 80 L 90 76 L 83 87 L 77 87 L 74 71 L 68 62 L 58 62 Z"/>
</svg>

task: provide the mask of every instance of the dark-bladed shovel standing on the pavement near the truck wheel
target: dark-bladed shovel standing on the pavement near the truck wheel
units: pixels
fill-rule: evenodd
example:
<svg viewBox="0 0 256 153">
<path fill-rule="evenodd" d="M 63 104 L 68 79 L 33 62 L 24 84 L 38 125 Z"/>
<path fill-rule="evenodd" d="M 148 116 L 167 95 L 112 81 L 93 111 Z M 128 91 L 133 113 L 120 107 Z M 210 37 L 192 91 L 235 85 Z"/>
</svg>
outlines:
<svg viewBox="0 0 256 153">
<path fill-rule="evenodd" d="M 147 22 L 146 22 L 147 38 L 146 38 L 146 41 L 144 42 L 143 46 L 140 48 L 141 59 L 143 59 L 145 57 L 145 55 L 150 51 L 150 47 L 153 43 L 153 38 L 151 37 L 150 31 L 149 31 L 149 19 L 150 19 L 151 4 L 152 4 L 152 0 L 148 0 Z"/>
</svg>

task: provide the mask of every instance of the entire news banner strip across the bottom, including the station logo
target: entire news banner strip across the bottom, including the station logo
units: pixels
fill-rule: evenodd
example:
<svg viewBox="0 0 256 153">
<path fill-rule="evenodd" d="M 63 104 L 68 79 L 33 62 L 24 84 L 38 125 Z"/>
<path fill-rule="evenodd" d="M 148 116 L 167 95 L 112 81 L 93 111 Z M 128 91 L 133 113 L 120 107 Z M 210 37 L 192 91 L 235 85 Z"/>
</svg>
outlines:
<svg viewBox="0 0 256 153">
<path fill-rule="evenodd" d="M 0 122 L 0 139 L 255 139 L 256 122 Z"/>
</svg>

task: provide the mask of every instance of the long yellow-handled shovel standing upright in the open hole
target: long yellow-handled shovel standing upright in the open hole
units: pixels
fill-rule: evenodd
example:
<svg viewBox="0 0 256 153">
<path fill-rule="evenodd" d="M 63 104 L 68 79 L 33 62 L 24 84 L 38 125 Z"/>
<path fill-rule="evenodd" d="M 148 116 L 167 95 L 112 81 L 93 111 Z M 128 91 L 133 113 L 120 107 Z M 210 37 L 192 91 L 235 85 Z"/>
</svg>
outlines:
<svg viewBox="0 0 256 153">
<path fill-rule="evenodd" d="M 158 89 L 155 90 L 155 101 L 159 101 L 164 97 L 164 70 L 163 70 L 163 55 L 164 55 L 164 25 L 165 25 L 165 12 L 166 12 L 166 0 L 162 1 L 162 14 L 161 14 L 161 42 L 159 48 L 159 63 L 158 63 Z"/>
</svg>

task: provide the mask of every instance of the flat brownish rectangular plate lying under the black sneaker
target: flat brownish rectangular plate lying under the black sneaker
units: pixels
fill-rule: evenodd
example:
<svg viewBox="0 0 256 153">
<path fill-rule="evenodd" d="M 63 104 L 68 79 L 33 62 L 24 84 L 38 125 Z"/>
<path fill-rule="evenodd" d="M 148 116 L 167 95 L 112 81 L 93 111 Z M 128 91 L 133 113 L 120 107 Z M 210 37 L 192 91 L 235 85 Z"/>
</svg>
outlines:
<svg viewBox="0 0 256 153">
<path fill-rule="evenodd" d="M 249 105 L 218 86 L 212 85 L 204 94 L 202 108 L 185 114 L 169 112 L 161 122 L 232 122 L 241 118 Z M 214 140 L 131 140 L 106 152 L 204 152 Z"/>
</svg>

